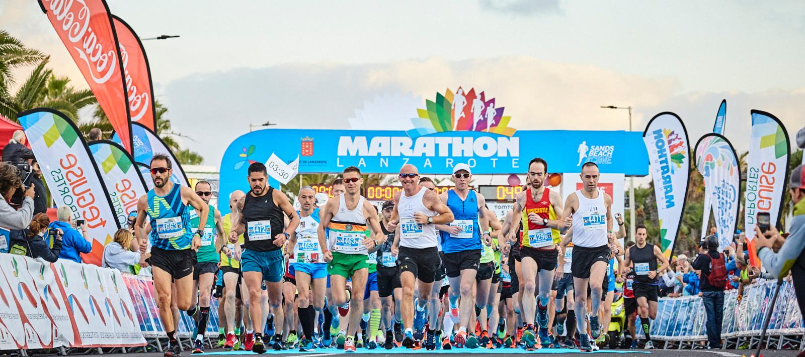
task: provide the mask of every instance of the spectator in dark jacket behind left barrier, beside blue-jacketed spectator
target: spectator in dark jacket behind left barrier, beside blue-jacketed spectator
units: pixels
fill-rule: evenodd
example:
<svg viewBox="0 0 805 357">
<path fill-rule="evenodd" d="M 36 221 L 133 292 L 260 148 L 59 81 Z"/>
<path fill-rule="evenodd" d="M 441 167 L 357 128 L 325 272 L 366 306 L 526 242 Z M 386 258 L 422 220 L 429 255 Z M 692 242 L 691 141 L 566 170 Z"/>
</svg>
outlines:
<svg viewBox="0 0 805 357">
<path fill-rule="evenodd" d="M 53 248 L 48 247 L 47 242 L 44 240 L 44 235 L 47 232 L 47 224 L 50 219 L 44 213 L 39 213 L 31 220 L 28 228 L 11 231 L 11 254 L 19 254 L 21 256 L 31 256 L 31 258 L 42 258 L 45 261 L 54 263 L 59 260 L 59 253 L 61 252 L 61 236 L 64 232 L 60 229 L 55 229 Z"/>
</svg>

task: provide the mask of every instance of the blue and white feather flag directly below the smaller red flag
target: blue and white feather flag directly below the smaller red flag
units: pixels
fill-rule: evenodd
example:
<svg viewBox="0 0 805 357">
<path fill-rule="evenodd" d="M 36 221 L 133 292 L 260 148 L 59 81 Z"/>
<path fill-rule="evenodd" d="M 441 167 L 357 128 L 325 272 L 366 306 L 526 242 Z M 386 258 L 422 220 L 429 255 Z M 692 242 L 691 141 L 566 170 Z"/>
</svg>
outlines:
<svg viewBox="0 0 805 357">
<path fill-rule="evenodd" d="M 154 131 L 140 123 L 131 123 L 131 137 L 133 138 L 132 140 L 134 140 L 134 152 L 131 155 L 134 157 L 134 162 L 142 163 L 146 167 L 151 167 L 151 158 L 153 158 L 155 154 L 166 154 L 168 158 L 171 158 L 171 167 L 173 168 L 171 180 L 174 183 L 189 186 L 188 177 L 184 174 L 179 160 L 176 160 L 173 152 L 167 148 L 165 142 L 163 142 Z M 120 137 L 118 137 L 118 133 L 112 135 L 112 141 L 120 144 L 121 141 Z M 142 177 L 151 178 L 151 174 L 143 175 Z"/>
</svg>

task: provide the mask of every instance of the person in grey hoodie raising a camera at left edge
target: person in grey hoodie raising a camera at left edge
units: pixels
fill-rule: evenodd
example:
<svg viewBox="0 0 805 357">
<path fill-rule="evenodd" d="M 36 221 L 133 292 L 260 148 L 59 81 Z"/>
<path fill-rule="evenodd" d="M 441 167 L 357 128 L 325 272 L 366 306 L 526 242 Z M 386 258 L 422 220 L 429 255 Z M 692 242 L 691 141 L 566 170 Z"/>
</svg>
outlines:
<svg viewBox="0 0 805 357">
<path fill-rule="evenodd" d="M 10 230 L 23 229 L 34 215 L 34 187 L 25 190 L 25 199 L 19 211 L 8 202 L 17 190 L 23 190 L 23 179 L 14 165 L 0 162 L 0 226 Z"/>
</svg>

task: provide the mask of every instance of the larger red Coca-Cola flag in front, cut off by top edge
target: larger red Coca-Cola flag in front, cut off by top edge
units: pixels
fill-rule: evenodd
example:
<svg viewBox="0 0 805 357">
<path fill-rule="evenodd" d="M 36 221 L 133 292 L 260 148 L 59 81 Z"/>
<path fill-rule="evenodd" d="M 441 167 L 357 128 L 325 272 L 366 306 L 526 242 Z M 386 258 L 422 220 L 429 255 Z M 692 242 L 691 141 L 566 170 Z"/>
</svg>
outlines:
<svg viewBox="0 0 805 357">
<path fill-rule="evenodd" d="M 131 152 L 123 61 L 104 0 L 39 0 L 61 42 L 84 75 L 123 146 Z"/>
</svg>

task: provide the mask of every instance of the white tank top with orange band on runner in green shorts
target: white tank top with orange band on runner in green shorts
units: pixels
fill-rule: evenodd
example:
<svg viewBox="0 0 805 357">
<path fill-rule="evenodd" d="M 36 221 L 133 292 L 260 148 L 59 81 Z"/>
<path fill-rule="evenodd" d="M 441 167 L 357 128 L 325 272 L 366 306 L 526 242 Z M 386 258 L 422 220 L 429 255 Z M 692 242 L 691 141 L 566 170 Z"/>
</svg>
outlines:
<svg viewBox="0 0 805 357">
<path fill-rule="evenodd" d="M 345 194 L 338 196 L 338 211 L 332 216 L 330 223 L 329 243 L 332 245 L 332 250 L 344 254 L 363 254 L 368 255 L 369 251 L 363 245 L 363 240 L 366 239 L 365 232 L 369 232 L 369 227 L 366 225 L 366 218 L 363 215 L 363 196 L 359 196 L 357 206 L 353 211 L 349 211 L 345 199 Z M 339 228 L 337 229 L 336 224 Z M 363 232 L 359 232 L 357 227 L 364 228 Z"/>
</svg>

